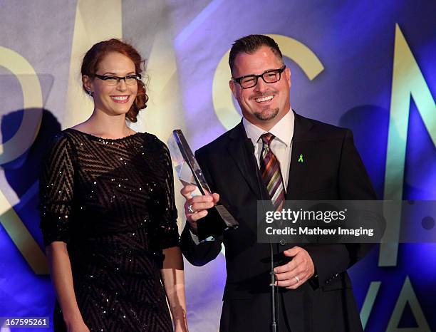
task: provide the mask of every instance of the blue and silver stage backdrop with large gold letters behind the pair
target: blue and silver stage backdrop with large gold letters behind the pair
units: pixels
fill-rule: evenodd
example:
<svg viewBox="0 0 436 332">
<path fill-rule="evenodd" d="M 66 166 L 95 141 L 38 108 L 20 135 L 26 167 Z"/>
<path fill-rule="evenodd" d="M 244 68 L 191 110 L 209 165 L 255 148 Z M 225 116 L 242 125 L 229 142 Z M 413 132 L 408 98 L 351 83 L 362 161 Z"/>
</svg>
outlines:
<svg viewBox="0 0 436 332">
<path fill-rule="evenodd" d="M 124 38 L 147 59 L 150 102 L 132 128 L 164 141 L 182 129 L 197 149 L 241 119 L 228 88 L 232 42 L 273 36 L 292 107 L 353 130 L 380 199 L 435 200 L 435 12 L 432 0 L 1 1 L 0 317 L 51 316 L 38 172 L 51 137 L 92 112 L 79 70 L 93 43 Z M 388 221 L 394 240 L 400 220 Z M 219 328 L 224 255 L 185 262 L 190 331 Z M 436 331 L 435 257 L 435 243 L 383 244 L 353 266 L 365 331 Z"/>
</svg>

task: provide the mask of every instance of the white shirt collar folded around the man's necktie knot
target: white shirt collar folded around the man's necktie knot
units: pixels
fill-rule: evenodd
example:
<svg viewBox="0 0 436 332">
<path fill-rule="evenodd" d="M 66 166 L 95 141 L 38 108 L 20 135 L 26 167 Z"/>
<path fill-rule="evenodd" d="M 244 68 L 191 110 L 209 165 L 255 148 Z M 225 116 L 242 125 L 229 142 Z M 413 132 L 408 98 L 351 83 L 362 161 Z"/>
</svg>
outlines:
<svg viewBox="0 0 436 332">
<path fill-rule="evenodd" d="M 246 136 L 251 140 L 251 142 L 253 142 L 254 145 L 256 145 L 256 142 L 259 140 L 262 134 L 271 133 L 278 140 L 289 147 L 291 145 L 292 136 L 294 135 L 294 119 L 295 115 L 291 109 L 284 115 L 283 118 L 281 118 L 278 123 L 274 125 L 273 128 L 269 130 L 269 132 L 257 127 L 253 123 L 249 122 L 249 120 L 246 120 L 246 118 L 242 119 L 242 124 L 244 125 Z"/>
</svg>

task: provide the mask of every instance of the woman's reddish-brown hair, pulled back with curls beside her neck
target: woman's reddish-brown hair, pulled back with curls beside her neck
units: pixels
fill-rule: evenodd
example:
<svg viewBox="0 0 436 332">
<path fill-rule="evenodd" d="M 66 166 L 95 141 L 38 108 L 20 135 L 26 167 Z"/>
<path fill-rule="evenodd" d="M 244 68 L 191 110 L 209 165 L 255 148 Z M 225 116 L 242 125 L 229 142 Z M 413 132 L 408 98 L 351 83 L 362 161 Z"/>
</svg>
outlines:
<svg viewBox="0 0 436 332">
<path fill-rule="evenodd" d="M 135 63 L 136 73 L 142 73 L 144 61 L 142 60 L 140 53 L 138 53 L 130 44 L 113 38 L 108 41 L 100 41 L 100 43 L 96 43 L 88 52 L 86 52 L 81 67 L 82 75 L 93 78 L 95 73 L 98 71 L 98 64 L 110 52 L 118 52 L 127 56 L 131 61 L 133 61 L 133 63 Z M 83 90 L 88 92 L 84 85 Z M 136 98 L 133 101 L 130 110 L 128 110 L 128 113 L 125 115 L 128 120 L 135 123 L 137 121 L 137 113 L 147 107 L 147 101 L 148 95 L 145 90 L 145 84 L 142 81 L 137 81 Z"/>
</svg>

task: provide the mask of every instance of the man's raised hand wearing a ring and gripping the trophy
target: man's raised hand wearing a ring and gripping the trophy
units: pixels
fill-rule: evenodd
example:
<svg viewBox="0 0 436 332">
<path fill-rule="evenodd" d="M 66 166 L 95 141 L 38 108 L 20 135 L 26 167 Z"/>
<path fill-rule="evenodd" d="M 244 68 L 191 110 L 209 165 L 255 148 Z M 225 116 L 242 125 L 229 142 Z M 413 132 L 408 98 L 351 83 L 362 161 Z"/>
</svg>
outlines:
<svg viewBox="0 0 436 332">
<path fill-rule="evenodd" d="M 197 234 L 197 220 L 206 217 L 207 209 L 214 207 L 219 201 L 219 194 L 216 193 L 192 197 L 191 193 L 196 188 L 194 185 L 187 185 L 180 190 L 180 194 L 186 199 L 185 214 L 194 234 Z"/>
</svg>

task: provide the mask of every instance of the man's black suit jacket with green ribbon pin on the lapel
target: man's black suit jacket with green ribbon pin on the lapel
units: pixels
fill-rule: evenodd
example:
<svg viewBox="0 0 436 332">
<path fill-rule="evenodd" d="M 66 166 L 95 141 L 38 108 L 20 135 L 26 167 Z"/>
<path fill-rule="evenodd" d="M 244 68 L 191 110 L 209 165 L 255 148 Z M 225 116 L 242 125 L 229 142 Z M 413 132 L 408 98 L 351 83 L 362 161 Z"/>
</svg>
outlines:
<svg viewBox="0 0 436 332">
<path fill-rule="evenodd" d="M 292 144 L 286 199 L 376 199 L 350 130 L 296 114 Z M 301 154 L 303 163 L 298 162 Z M 238 220 L 239 228 L 225 232 L 214 242 L 196 245 L 186 226 L 181 237 L 182 251 L 190 263 L 202 266 L 217 257 L 224 243 L 227 281 L 221 331 L 268 331 L 260 326 L 265 326 L 262 324 L 269 315 L 270 249 L 269 244 L 256 242 L 256 202 L 269 195 L 259 173 L 256 175 L 259 168 L 242 123 L 200 148 L 196 158 L 209 186 L 220 194 L 220 203 Z M 210 213 L 201 222 L 216 217 Z M 276 264 L 286 261 L 281 253 L 294 245 L 274 244 Z M 297 290 L 281 289 L 281 309 L 291 331 L 361 331 L 346 269 L 371 246 L 301 247 L 310 254 L 318 277 Z M 264 306 L 246 310 L 259 299 Z M 262 315 L 261 311 L 267 313 Z"/>
</svg>

